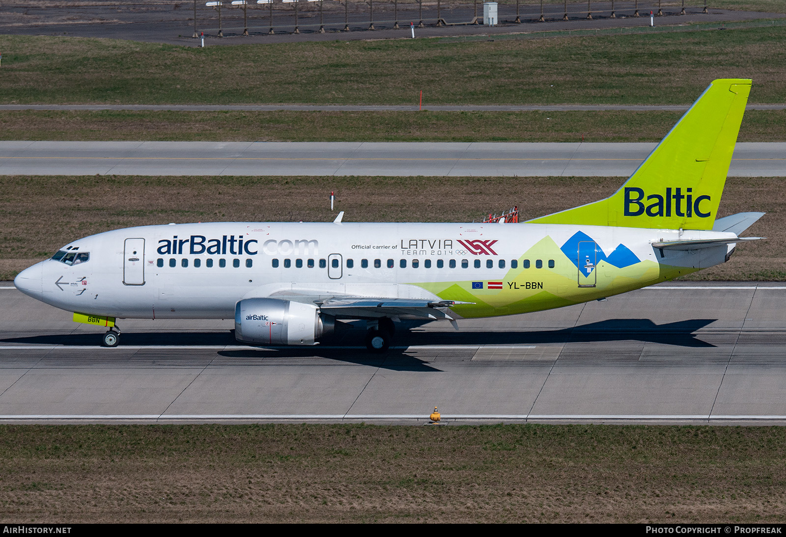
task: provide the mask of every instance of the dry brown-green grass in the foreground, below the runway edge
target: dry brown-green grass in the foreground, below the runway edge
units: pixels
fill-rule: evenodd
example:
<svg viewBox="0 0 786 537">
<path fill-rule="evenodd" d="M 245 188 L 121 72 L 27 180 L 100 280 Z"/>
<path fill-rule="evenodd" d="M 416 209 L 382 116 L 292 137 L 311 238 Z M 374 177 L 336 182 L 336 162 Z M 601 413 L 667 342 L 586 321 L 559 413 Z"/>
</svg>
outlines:
<svg viewBox="0 0 786 537">
<path fill-rule="evenodd" d="M 769 522 L 786 429 L 0 426 L 14 523 Z"/>
</svg>

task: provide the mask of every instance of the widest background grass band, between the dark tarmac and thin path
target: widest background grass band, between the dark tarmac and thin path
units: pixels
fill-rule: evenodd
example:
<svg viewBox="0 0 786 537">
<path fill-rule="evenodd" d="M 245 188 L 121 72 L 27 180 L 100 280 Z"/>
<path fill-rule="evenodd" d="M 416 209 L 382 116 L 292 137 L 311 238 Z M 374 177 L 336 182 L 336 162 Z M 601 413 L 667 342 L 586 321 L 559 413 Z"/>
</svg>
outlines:
<svg viewBox="0 0 786 537">
<path fill-rule="evenodd" d="M 214 46 L 0 36 L 0 103 L 689 104 L 717 78 L 786 100 L 786 26 L 450 42 Z"/>
</svg>

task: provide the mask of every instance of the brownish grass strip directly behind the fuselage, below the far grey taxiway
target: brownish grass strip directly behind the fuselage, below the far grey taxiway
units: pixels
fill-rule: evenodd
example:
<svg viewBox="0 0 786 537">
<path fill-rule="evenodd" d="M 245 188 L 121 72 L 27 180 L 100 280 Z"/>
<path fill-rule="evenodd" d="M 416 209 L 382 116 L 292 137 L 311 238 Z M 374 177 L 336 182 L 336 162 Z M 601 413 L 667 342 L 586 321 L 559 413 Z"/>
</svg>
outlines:
<svg viewBox="0 0 786 537">
<path fill-rule="evenodd" d="M 472 221 L 520 207 L 522 220 L 602 199 L 622 177 L 2 177 L 0 279 L 69 241 L 109 229 L 190 221 Z M 691 279 L 786 279 L 784 178 L 729 178 L 720 216 L 767 215 L 731 261 Z M 329 210 L 329 192 L 336 210 Z M 194 192 L 199 195 L 193 195 Z"/>
</svg>

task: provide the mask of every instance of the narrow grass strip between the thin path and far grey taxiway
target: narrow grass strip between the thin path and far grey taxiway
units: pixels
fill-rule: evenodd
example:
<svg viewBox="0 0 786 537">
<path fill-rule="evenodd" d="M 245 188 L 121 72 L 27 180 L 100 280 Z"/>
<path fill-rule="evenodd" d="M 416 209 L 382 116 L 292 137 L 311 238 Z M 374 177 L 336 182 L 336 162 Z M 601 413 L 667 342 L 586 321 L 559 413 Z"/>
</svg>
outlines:
<svg viewBox="0 0 786 537">
<path fill-rule="evenodd" d="M 680 117 L 670 111 L 4 111 L 0 140 L 630 142 L 659 141 Z M 786 110 L 747 111 L 739 141 L 786 141 Z"/>
</svg>

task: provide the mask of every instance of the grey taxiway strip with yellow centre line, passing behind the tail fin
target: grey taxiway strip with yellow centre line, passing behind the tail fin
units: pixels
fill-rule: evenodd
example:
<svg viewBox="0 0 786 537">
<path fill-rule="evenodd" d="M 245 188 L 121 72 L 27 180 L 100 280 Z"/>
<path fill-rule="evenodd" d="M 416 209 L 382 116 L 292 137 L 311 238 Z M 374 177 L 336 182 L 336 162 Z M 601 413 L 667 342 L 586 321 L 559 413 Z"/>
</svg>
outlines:
<svg viewBox="0 0 786 537">
<path fill-rule="evenodd" d="M 0 141 L 0 175 L 627 177 L 654 143 Z M 736 144 L 732 177 L 786 177 L 786 143 Z"/>
</svg>

